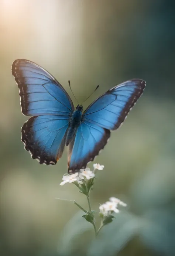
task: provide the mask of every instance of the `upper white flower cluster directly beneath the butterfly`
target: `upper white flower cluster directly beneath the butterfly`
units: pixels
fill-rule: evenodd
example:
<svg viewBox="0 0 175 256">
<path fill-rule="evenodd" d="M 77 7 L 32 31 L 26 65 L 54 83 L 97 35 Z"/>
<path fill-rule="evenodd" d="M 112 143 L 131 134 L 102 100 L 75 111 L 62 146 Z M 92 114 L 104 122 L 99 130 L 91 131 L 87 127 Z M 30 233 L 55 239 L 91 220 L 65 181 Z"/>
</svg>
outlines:
<svg viewBox="0 0 175 256">
<path fill-rule="evenodd" d="M 91 171 L 90 168 L 86 168 L 86 169 L 80 169 L 79 173 L 74 173 L 74 174 L 65 174 L 62 178 L 62 182 L 60 183 L 60 185 L 64 185 L 66 183 L 72 183 L 77 181 L 78 184 L 83 184 L 83 180 L 86 178 L 86 180 L 90 180 L 91 178 L 95 177 L 95 173 L 94 171 L 97 170 L 103 170 L 104 165 L 100 165 L 100 164 L 93 164 L 93 168 L 94 170 Z"/>
</svg>

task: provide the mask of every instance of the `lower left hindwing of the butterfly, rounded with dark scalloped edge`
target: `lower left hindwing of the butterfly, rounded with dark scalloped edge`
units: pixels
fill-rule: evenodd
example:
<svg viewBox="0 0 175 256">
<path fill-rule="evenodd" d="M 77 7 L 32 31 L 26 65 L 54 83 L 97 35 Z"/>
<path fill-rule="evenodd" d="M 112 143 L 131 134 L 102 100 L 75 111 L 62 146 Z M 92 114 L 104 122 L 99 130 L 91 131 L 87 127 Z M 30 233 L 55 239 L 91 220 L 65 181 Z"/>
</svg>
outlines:
<svg viewBox="0 0 175 256">
<path fill-rule="evenodd" d="M 69 126 L 69 118 L 61 116 L 34 116 L 21 128 L 25 149 L 40 164 L 56 164 L 62 156 Z"/>
</svg>

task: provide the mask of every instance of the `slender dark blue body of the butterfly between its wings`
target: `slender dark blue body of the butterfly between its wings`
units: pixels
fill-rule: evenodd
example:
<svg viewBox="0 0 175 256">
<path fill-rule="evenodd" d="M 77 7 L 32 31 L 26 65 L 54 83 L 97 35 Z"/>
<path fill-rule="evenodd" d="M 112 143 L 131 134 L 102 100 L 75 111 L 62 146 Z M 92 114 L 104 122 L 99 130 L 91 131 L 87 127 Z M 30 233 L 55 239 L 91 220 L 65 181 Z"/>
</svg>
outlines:
<svg viewBox="0 0 175 256">
<path fill-rule="evenodd" d="M 72 113 L 72 116 L 69 121 L 68 133 L 66 136 L 66 146 L 69 145 L 69 143 L 71 142 L 71 140 L 73 139 L 76 133 L 78 126 L 80 125 L 80 122 L 82 119 L 82 110 L 83 110 L 83 107 L 78 105 L 75 111 L 73 111 Z"/>
</svg>

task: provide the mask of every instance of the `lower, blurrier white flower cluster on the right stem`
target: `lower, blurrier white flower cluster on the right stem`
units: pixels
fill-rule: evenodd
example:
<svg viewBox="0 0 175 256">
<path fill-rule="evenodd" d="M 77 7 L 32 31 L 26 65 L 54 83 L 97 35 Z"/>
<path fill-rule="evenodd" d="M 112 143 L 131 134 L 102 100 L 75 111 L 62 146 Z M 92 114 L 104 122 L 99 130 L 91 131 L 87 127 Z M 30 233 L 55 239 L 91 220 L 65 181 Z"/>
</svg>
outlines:
<svg viewBox="0 0 175 256">
<path fill-rule="evenodd" d="M 110 197 L 110 201 L 107 201 L 106 203 L 99 206 L 100 213 L 103 216 L 109 216 L 115 213 L 119 213 L 119 209 L 117 209 L 118 205 L 127 206 L 124 202 L 120 201 L 120 199 L 116 197 Z"/>
</svg>

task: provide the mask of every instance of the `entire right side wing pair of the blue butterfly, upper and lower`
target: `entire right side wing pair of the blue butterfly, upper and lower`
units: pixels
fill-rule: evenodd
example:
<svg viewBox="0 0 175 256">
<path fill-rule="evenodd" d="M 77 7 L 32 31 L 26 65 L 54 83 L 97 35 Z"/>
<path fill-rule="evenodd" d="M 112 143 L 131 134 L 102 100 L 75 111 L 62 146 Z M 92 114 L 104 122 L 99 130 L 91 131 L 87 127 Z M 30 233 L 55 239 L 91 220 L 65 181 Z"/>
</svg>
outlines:
<svg viewBox="0 0 175 256">
<path fill-rule="evenodd" d="M 69 149 L 69 172 L 85 168 L 104 148 L 110 130 L 116 130 L 142 95 L 145 81 L 121 83 L 96 99 L 83 113 L 74 144 Z"/>
</svg>

